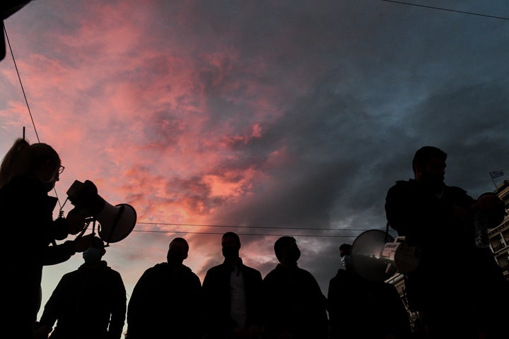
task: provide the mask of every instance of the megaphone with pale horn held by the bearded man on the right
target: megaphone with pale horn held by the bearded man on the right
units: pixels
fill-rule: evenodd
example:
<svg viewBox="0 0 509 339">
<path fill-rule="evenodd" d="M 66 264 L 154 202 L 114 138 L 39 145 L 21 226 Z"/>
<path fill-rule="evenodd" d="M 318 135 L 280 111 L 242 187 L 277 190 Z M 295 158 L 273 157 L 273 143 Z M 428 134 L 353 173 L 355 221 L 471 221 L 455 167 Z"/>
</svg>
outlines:
<svg viewBox="0 0 509 339">
<path fill-rule="evenodd" d="M 394 239 L 381 230 L 367 230 L 358 235 L 351 248 L 353 270 L 363 278 L 385 281 L 396 273 L 408 273 L 419 265 L 419 249 Z"/>
</svg>

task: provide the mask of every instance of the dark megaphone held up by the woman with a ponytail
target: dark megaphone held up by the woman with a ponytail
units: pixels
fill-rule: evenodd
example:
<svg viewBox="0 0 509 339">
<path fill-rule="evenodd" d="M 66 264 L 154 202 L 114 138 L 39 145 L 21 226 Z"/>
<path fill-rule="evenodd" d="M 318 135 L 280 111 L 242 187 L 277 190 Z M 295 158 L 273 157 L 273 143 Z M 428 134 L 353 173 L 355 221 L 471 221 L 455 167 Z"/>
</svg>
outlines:
<svg viewBox="0 0 509 339">
<path fill-rule="evenodd" d="M 119 203 L 112 206 L 98 194 L 90 180 L 84 183 L 75 180 L 67 190 L 67 196 L 80 213 L 99 222 L 98 235 L 107 243 L 124 239 L 136 225 L 136 210 L 131 205 Z"/>
</svg>

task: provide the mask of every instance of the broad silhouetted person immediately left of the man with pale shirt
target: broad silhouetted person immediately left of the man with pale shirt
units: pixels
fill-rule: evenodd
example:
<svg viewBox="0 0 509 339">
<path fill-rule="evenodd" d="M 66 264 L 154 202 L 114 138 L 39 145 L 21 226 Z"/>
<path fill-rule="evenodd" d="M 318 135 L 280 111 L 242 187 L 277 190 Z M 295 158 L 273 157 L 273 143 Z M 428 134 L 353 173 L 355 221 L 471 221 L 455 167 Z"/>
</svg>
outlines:
<svg viewBox="0 0 509 339">
<path fill-rule="evenodd" d="M 129 299 L 127 339 L 201 338 L 201 283 L 182 262 L 189 244 L 177 237 L 167 261 L 148 268 Z"/>
</svg>

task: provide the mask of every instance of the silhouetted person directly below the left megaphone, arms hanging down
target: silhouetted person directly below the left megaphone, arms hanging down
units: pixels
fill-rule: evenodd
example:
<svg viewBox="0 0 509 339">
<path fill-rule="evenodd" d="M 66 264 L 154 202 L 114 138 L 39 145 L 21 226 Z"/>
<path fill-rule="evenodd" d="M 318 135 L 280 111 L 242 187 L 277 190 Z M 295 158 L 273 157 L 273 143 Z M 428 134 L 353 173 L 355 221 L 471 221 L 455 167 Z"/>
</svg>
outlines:
<svg viewBox="0 0 509 339">
<path fill-rule="evenodd" d="M 95 237 L 83 251 L 85 263 L 66 273 L 49 297 L 39 325 L 49 339 L 120 339 L 127 299 L 122 277 L 101 260 L 103 241 Z"/>
</svg>

